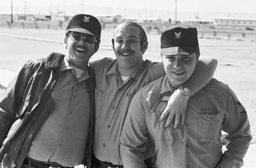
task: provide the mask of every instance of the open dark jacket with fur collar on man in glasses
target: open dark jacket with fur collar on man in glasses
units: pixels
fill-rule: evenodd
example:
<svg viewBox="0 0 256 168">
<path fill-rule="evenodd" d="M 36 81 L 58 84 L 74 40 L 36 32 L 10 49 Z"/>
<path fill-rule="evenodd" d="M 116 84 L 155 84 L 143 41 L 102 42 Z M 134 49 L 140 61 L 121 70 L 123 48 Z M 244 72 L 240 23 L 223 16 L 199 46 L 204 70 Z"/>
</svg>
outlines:
<svg viewBox="0 0 256 168">
<path fill-rule="evenodd" d="M 60 75 L 65 55 L 51 53 L 46 59 L 29 60 L 7 87 L 0 101 L 0 160 L 5 167 L 20 168 L 31 139 L 54 108 L 49 96 Z M 88 67 L 90 137 L 83 164 L 90 168 L 94 126 L 94 72 Z"/>
</svg>

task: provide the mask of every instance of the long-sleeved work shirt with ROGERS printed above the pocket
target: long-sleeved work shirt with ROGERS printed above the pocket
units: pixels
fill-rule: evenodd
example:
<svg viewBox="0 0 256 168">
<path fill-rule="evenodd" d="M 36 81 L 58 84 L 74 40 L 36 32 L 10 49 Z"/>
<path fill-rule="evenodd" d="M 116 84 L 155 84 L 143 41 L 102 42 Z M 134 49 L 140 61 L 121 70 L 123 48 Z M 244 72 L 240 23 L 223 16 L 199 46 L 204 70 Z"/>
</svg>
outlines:
<svg viewBox="0 0 256 168">
<path fill-rule="evenodd" d="M 148 138 L 155 146 L 155 168 L 216 168 L 220 161 L 222 168 L 241 167 L 252 136 L 245 108 L 234 92 L 212 79 L 189 98 L 185 124 L 173 129 L 164 127 L 167 118 L 159 118 L 167 104 L 160 98 L 174 91 L 162 77 L 133 97 L 120 138 L 124 168 L 144 168 L 141 153 Z M 224 154 L 222 130 L 229 134 Z"/>
</svg>

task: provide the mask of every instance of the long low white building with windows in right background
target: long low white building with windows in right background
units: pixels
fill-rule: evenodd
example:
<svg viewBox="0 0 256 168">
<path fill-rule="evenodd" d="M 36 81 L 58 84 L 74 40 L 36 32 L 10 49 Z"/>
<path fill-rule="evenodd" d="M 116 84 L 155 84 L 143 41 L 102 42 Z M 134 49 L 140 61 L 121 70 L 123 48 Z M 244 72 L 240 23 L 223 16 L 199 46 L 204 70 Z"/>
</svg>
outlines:
<svg viewBox="0 0 256 168">
<path fill-rule="evenodd" d="M 256 18 L 215 18 L 216 27 L 243 27 L 256 28 Z"/>
</svg>

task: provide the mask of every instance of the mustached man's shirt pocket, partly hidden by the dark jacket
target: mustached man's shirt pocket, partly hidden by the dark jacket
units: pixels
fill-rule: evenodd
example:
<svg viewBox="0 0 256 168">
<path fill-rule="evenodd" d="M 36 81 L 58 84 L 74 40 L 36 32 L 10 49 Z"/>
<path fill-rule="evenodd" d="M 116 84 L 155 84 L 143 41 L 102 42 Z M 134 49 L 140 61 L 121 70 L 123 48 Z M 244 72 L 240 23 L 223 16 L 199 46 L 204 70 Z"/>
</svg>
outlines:
<svg viewBox="0 0 256 168">
<path fill-rule="evenodd" d="M 101 116 L 101 111 L 103 108 L 104 100 L 106 97 L 106 93 L 95 89 L 95 118 Z"/>
</svg>

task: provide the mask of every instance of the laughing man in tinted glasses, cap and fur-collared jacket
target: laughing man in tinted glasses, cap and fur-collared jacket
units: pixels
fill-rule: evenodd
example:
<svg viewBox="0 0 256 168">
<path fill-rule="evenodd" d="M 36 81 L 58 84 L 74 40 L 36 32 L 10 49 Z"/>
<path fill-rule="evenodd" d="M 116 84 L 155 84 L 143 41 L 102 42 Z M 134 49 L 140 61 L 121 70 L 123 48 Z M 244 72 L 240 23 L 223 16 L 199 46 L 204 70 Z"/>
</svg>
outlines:
<svg viewBox="0 0 256 168">
<path fill-rule="evenodd" d="M 90 168 L 94 125 L 93 71 L 101 25 L 88 14 L 67 26 L 66 55 L 29 60 L 0 101 L 1 168 Z"/>
</svg>

